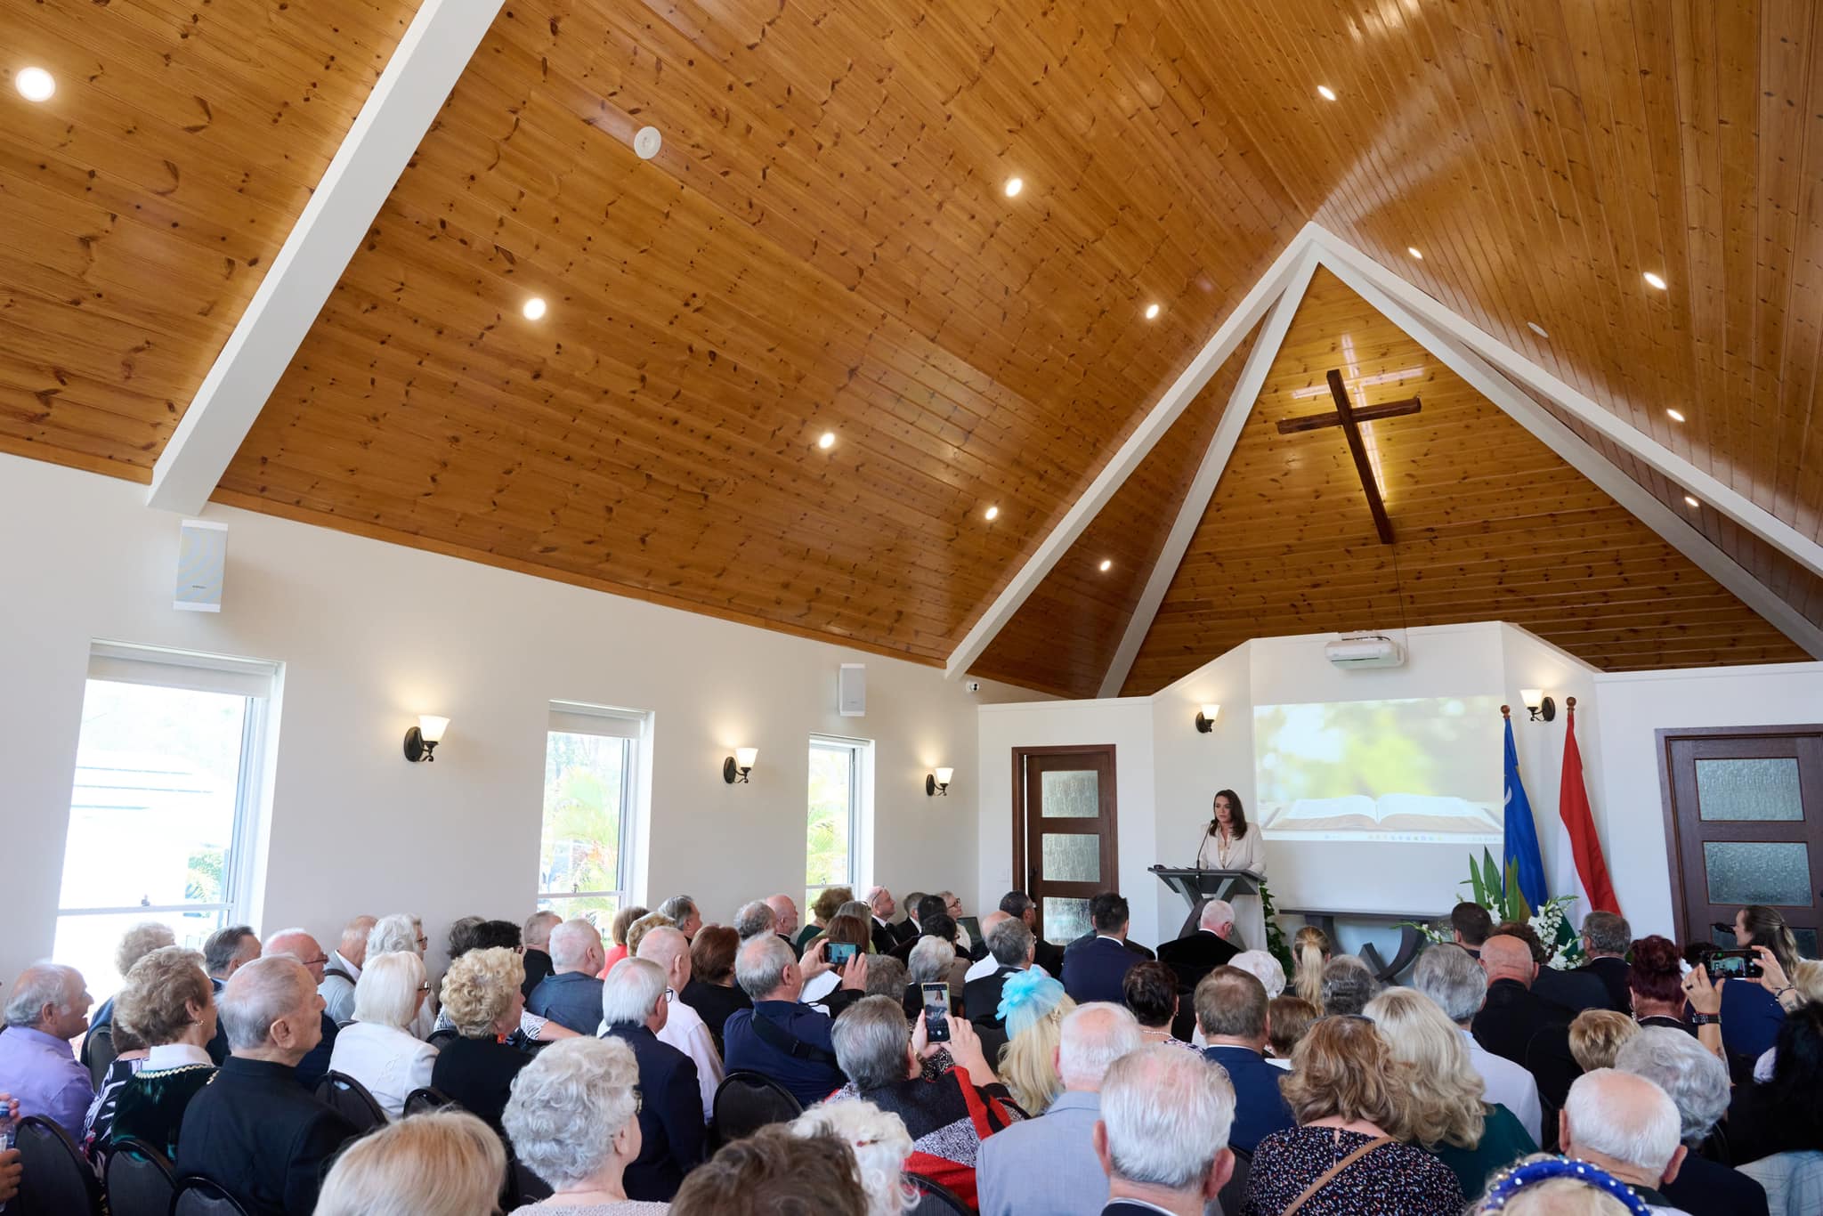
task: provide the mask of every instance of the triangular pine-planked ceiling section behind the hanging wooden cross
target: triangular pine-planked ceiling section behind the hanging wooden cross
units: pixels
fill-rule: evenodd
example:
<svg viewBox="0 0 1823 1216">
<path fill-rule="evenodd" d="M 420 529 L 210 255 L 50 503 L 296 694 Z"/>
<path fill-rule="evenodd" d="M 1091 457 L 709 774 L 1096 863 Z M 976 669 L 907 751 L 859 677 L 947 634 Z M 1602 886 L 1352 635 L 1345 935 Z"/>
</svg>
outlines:
<svg viewBox="0 0 1823 1216">
<path fill-rule="evenodd" d="M 1329 407 L 1418 396 L 1364 427 L 1393 545 L 1340 432 L 1278 434 Z M 1508 620 L 1606 671 L 1801 662 L 1732 593 L 1318 272 L 1147 633 L 1147 695 L 1262 636 Z"/>
</svg>

